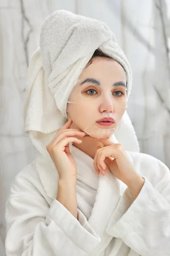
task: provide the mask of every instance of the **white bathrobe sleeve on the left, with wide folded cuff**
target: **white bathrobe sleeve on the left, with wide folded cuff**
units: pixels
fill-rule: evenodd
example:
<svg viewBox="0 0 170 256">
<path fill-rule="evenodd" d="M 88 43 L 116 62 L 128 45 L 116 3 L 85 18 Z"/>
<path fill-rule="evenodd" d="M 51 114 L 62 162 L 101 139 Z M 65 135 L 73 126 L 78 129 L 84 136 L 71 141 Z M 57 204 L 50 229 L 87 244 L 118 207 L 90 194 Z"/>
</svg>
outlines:
<svg viewBox="0 0 170 256">
<path fill-rule="evenodd" d="M 11 190 L 5 214 L 6 256 L 86 256 L 99 244 L 100 237 L 79 209 L 77 220 L 57 200 L 49 207 L 38 189 L 22 185 L 19 176 Z"/>
</svg>

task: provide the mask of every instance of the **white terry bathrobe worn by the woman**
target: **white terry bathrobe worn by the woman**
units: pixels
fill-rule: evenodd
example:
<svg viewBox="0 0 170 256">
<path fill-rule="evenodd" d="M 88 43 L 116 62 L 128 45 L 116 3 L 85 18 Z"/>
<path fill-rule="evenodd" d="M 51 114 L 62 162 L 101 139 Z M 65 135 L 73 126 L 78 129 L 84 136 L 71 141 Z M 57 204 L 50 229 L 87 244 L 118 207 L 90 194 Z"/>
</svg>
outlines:
<svg viewBox="0 0 170 256">
<path fill-rule="evenodd" d="M 148 154 L 126 152 L 145 180 L 135 201 L 73 146 L 78 220 L 56 200 L 55 175 L 38 172 L 35 161 L 19 172 L 6 202 L 6 256 L 169 256 L 170 170 Z"/>
</svg>

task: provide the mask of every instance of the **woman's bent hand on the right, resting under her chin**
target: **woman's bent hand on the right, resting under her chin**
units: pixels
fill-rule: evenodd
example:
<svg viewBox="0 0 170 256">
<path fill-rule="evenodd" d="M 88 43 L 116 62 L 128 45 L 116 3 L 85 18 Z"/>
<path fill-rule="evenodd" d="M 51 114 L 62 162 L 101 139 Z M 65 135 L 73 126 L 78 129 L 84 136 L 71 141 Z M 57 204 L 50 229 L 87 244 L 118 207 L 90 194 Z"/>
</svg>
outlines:
<svg viewBox="0 0 170 256">
<path fill-rule="evenodd" d="M 94 168 L 98 170 L 97 173 L 102 172 L 105 175 L 107 165 L 113 175 L 125 184 L 139 177 L 121 144 L 113 143 L 109 139 L 88 137 L 89 139 L 99 141 L 104 145 L 97 147 L 94 157 Z"/>
</svg>

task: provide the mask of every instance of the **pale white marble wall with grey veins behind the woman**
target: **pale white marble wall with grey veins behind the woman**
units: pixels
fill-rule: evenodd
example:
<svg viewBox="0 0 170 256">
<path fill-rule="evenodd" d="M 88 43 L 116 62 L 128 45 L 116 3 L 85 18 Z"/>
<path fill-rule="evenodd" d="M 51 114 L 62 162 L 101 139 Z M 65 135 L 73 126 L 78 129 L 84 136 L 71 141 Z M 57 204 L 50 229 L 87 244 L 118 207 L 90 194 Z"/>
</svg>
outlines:
<svg viewBox="0 0 170 256">
<path fill-rule="evenodd" d="M 43 20 L 57 9 L 110 26 L 133 71 L 127 112 L 141 152 L 170 168 L 169 0 L 0 0 L 0 256 L 11 181 L 34 159 L 23 127 L 28 61 L 39 46 Z"/>
</svg>

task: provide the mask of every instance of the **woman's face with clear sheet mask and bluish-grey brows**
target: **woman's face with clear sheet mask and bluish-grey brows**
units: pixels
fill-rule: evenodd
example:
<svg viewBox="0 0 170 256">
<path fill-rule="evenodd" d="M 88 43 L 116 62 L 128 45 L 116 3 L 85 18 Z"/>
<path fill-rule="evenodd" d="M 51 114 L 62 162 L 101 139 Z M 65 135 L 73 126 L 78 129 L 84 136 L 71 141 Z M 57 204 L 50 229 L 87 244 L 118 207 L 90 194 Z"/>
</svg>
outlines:
<svg viewBox="0 0 170 256">
<path fill-rule="evenodd" d="M 123 67 L 117 61 L 96 57 L 82 71 L 71 92 L 69 102 L 73 103 L 67 105 L 68 119 L 73 120 L 70 128 L 85 131 L 91 137 L 110 137 L 125 113 L 126 99 Z M 103 113 L 111 113 L 115 122 L 110 126 L 99 125 L 96 121 L 105 117 Z"/>
</svg>

